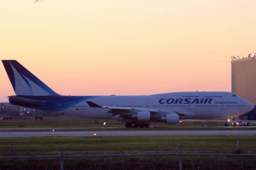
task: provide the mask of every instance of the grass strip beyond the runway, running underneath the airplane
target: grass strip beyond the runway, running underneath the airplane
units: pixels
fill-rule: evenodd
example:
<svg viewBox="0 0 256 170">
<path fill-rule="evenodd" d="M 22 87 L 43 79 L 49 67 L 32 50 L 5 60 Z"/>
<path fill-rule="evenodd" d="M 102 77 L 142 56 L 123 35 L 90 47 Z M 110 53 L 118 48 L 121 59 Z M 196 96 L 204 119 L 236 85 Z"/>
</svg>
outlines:
<svg viewBox="0 0 256 170">
<path fill-rule="evenodd" d="M 102 128 L 103 120 L 92 120 L 92 119 L 46 119 L 44 121 L 34 121 L 34 120 L 20 120 L 14 119 L 12 121 L 0 121 L 1 128 L 17 128 L 13 131 L 23 131 L 24 128 L 80 128 L 80 129 L 62 129 L 72 131 L 72 130 L 94 130 L 94 129 L 83 129 L 83 128 Z M 108 120 L 106 127 L 116 127 L 116 128 L 105 128 L 104 130 L 256 130 L 256 127 L 224 127 L 223 122 L 216 121 L 199 121 L 199 122 L 189 122 L 184 121 L 182 126 L 170 125 L 166 123 L 150 123 L 150 127 L 153 128 L 124 128 L 122 122 Z M 205 126 L 206 125 L 206 126 Z M 223 127 L 223 128 L 215 128 Z M 58 129 L 59 130 L 59 129 Z M 3 130 L 1 130 L 3 131 Z M 7 130 L 6 130 L 7 131 Z M 34 131 L 33 129 L 26 129 L 26 131 Z M 40 130 L 45 131 L 45 130 Z"/>
</svg>

